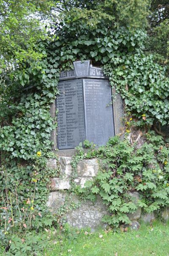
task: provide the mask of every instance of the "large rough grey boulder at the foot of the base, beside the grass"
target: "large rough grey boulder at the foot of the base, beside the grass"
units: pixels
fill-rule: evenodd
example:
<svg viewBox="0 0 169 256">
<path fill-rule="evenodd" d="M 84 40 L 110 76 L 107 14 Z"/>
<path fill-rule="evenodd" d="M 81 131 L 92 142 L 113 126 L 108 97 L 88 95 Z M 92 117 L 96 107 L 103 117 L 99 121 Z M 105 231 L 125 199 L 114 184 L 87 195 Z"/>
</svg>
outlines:
<svg viewBox="0 0 169 256">
<path fill-rule="evenodd" d="M 106 206 L 102 203 L 100 197 L 97 198 L 95 203 L 87 200 L 82 202 L 78 209 L 74 209 L 65 216 L 65 221 L 75 228 L 91 228 L 92 231 L 99 226 L 105 227 L 102 222 L 102 217 L 108 214 Z"/>
</svg>

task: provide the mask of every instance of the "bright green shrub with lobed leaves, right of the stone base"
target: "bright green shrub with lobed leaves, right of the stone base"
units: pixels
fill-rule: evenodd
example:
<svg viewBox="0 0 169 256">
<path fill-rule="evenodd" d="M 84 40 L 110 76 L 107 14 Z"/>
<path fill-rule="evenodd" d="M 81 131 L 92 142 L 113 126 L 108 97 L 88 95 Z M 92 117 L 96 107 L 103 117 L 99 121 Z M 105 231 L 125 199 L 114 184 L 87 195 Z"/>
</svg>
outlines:
<svg viewBox="0 0 169 256">
<path fill-rule="evenodd" d="M 169 206 L 169 148 L 161 143 L 164 145 L 160 141 L 154 146 L 147 141 L 137 148 L 127 139 L 111 138 L 105 147 L 92 149 L 100 159 L 100 173 L 94 181 L 87 181 L 85 188 L 77 186 L 76 191 L 90 200 L 100 195 L 110 211 L 103 220 L 116 228 L 130 223 L 128 214 L 138 207 L 153 212 Z M 81 148 L 81 156 L 82 152 L 84 159 L 93 157 Z M 140 200 L 132 198 L 132 191 L 140 193 Z"/>
</svg>

